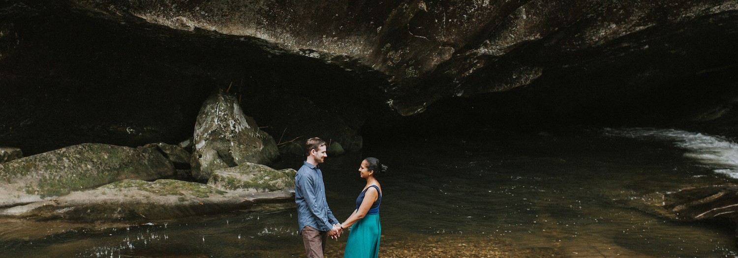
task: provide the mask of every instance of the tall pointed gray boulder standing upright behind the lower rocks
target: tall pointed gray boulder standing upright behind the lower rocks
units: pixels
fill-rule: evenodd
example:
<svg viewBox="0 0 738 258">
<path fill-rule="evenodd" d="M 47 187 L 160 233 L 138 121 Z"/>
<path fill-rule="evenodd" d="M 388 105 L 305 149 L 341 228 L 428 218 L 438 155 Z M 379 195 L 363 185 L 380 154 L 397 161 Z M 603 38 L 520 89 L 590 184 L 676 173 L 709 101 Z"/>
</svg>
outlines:
<svg viewBox="0 0 738 258">
<path fill-rule="evenodd" d="M 235 97 L 217 90 L 197 116 L 192 155 L 193 176 L 210 178 L 213 171 L 246 162 L 271 164 L 279 156 L 272 136 L 245 116 Z"/>
</svg>

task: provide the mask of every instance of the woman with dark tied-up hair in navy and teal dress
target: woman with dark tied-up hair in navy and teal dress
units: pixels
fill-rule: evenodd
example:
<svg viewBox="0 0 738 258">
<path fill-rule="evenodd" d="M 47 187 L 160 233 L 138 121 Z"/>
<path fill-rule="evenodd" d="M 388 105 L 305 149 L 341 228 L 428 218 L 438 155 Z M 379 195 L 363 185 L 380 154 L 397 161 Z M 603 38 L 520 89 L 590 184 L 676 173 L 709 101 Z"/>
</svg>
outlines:
<svg viewBox="0 0 738 258">
<path fill-rule="evenodd" d="M 376 158 L 365 158 L 359 167 L 359 175 L 367 180 L 367 184 L 359 198 L 356 198 L 356 210 L 341 223 L 341 229 L 351 227 L 344 258 L 379 256 L 379 236 L 382 234 L 379 203 L 382 203 L 382 186 L 379 186 L 376 176 L 386 171 L 387 166 Z"/>
</svg>

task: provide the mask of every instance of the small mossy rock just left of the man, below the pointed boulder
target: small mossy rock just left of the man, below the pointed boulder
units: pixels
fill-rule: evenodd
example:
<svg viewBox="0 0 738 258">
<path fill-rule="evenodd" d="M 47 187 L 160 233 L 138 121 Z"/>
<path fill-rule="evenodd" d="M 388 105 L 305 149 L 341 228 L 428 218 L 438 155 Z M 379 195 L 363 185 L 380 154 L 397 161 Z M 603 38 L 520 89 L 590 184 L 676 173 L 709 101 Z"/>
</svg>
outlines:
<svg viewBox="0 0 738 258">
<path fill-rule="evenodd" d="M 238 167 L 215 170 L 207 185 L 227 192 L 283 192 L 289 197 L 294 192 L 293 169 L 275 170 L 271 167 L 245 163 Z"/>
</svg>

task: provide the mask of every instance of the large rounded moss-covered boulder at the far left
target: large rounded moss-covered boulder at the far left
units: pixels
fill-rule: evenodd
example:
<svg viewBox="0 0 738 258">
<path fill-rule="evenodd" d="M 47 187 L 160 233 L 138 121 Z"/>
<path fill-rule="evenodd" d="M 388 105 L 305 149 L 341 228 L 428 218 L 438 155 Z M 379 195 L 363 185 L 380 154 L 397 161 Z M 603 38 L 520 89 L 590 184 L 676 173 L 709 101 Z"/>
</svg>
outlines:
<svg viewBox="0 0 738 258">
<path fill-rule="evenodd" d="M 152 148 L 79 144 L 0 164 L 0 206 L 42 201 L 123 179 L 172 176 L 174 167 Z"/>
</svg>

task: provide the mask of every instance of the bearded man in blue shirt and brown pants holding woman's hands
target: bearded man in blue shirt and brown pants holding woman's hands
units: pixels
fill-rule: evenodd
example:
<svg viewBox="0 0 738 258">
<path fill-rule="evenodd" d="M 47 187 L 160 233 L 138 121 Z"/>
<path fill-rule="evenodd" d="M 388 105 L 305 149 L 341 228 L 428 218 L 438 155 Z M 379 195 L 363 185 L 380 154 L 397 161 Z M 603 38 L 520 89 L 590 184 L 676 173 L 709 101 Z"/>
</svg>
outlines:
<svg viewBox="0 0 738 258">
<path fill-rule="evenodd" d="M 297 223 L 303 235 L 309 258 L 323 258 L 328 235 L 337 237 L 340 222 L 325 200 L 323 172 L 318 165 L 325 161 L 325 141 L 313 137 L 305 143 L 307 158 L 294 176 L 294 202 L 297 203 Z"/>
</svg>

